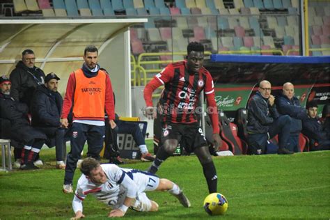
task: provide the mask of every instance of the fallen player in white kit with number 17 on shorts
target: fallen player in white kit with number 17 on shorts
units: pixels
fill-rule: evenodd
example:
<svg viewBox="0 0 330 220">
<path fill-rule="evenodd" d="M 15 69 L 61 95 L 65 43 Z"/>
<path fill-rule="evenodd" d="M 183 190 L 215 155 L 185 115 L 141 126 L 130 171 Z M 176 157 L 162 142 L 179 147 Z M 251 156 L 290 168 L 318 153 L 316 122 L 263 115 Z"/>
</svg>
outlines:
<svg viewBox="0 0 330 220">
<path fill-rule="evenodd" d="M 72 201 L 75 217 L 84 218 L 82 201 L 92 194 L 98 201 L 106 203 L 113 210 L 108 217 L 123 217 L 130 207 L 140 212 L 155 212 L 158 204 L 151 201 L 146 191 L 168 191 L 178 198 L 184 207 L 190 202 L 177 184 L 145 171 L 120 168 L 115 164 L 100 164 L 88 157 L 81 162 L 81 177 Z"/>
</svg>

